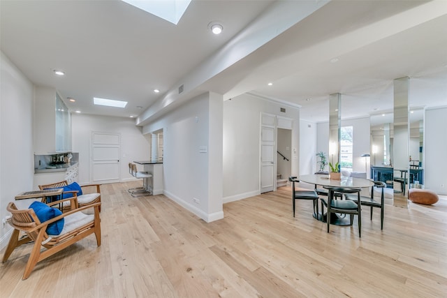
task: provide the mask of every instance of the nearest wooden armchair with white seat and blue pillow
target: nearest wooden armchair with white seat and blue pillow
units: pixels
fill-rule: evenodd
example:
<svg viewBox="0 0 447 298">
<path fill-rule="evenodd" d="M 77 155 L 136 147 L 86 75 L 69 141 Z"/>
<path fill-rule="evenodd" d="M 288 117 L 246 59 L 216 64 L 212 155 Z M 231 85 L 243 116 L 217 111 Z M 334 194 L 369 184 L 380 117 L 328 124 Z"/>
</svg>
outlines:
<svg viewBox="0 0 447 298">
<path fill-rule="evenodd" d="M 71 210 L 65 213 L 52 205 L 71 200 Z M 6 262 L 16 247 L 34 242 L 29 253 L 27 265 L 22 279 L 27 279 L 38 262 L 49 258 L 62 249 L 83 239 L 89 234 L 95 234 L 96 244 L 101 246 L 101 225 L 99 206 L 97 202 L 75 209 L 75 197 L 44 204 L 33 202 L 28 209 L 17 209 L 14 202 L 6 208 L 11 216 L 8 223 L 14 228 L 8 246 L 6 246 L 2 262 Z M 83 211 L 94 209 L 93 214 Z M 20 237 L 20 232 L 26 234 Z M 42 249 L 45 248 L 45 249 Z M 50 263 L 47 263 L 47 266 Z"/>
</svg>

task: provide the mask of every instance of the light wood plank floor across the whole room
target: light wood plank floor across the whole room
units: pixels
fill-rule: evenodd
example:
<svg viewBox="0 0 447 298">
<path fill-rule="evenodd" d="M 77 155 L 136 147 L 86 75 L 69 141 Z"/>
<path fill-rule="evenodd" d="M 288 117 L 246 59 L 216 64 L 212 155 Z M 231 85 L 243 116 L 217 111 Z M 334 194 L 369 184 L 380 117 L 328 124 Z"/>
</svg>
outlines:
<svg viewBox="0 0 447 298">
<path fill-rule="evenodd" d="M 312 218 L 312 202 L 279 188 L 224 204 L 205 223 L 136 184 L 101 186 L 102 245 L 94 235 L 38 263 L 22 281 L 30 245 L 0 265 L 0 297 L 446 297 L 447 198 L 387 205 L 358 228 Z M 3 251 L 1 252 L 3 253 Z"/>
</svg>

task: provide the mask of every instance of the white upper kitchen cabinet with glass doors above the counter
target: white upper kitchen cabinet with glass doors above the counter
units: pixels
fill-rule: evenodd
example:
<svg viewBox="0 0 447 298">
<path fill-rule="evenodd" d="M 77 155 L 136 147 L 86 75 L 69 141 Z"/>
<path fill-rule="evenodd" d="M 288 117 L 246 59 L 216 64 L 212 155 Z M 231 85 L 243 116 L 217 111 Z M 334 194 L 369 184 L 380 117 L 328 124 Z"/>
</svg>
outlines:
<svg viewBox="0 0 447 298">
<path fill-rule="evenodd" d="M 71 114 L 56 89 L 36 87 L 34 153 L 71 151 Z"/>
</svg>

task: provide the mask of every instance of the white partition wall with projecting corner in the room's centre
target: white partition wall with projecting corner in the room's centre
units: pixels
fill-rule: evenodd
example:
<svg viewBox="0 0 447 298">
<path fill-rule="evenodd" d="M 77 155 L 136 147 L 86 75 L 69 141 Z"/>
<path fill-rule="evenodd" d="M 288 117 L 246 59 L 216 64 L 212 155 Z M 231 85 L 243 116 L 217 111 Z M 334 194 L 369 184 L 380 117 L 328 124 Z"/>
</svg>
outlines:
<svg viewBox="0 0 447 298">
<path fill-rule="evenodd" d="M 207 222 L 223 218 L 222 101 L 202 94 L 143 127 L 163 129 L 164 194 Z"/>
</svg>

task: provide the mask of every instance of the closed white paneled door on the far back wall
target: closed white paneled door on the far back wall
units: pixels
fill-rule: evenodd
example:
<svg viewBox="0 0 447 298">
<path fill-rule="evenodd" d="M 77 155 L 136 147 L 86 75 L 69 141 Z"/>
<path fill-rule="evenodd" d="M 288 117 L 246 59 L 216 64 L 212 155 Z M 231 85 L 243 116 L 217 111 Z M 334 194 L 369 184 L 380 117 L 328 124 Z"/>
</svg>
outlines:
<svg viewBox="0 0 447 298">
<path fill-rule="evenodd" d="M 91 181 L 104 184 L 119 182 L 118 133 L 91 133 Z"/>
</svg>

